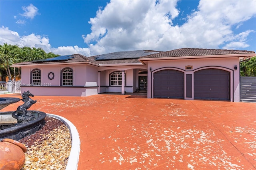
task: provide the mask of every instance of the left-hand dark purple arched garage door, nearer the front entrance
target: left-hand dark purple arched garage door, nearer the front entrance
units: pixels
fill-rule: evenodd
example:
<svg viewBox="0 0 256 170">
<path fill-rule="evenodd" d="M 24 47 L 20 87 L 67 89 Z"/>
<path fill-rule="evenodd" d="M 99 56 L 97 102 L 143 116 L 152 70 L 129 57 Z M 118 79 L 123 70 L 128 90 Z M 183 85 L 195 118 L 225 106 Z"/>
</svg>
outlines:
<svg viewBox="0 0 256 170">
<path fill-rule="evenodd" d="M 173 69 L 155 72 L 154 98 L 184 99 L 184 73 Z"/>
</svg>

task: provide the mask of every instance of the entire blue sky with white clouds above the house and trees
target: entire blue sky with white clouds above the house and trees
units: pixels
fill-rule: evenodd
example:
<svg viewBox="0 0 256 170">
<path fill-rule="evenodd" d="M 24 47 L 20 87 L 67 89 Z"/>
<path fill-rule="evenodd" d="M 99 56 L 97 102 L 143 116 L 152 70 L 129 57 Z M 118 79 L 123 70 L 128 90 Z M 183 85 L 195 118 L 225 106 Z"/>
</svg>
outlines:
<svg viewBox="0 0 256 170">
<path fill-rule="evenodd" d="M 86 56 L 184 47 L 256 51 L 256 1 L 1 0 L 3 43 Z"/>
</svg>

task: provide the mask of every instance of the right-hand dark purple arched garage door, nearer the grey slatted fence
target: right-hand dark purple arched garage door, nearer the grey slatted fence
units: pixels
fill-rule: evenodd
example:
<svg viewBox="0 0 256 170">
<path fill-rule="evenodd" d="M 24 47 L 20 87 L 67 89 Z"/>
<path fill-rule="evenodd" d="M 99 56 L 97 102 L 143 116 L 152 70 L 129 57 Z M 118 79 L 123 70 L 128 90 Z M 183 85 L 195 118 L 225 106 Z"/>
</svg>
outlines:
<svg viewBox="0 0 256 170">
<path fill-rule="evenodd" d="M 230 73 L 222 69 L 194 72 L 194 99 L 230 100 Z"/>
</svg>

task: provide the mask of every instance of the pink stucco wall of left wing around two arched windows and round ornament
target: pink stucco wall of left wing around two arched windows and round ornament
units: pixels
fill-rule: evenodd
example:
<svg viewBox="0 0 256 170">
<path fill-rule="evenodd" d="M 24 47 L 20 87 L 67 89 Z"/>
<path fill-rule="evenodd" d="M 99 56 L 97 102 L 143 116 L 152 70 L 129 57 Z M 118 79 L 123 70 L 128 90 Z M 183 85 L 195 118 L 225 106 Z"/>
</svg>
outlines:
<svg viewBox="0 0 256 170">
<path fill-rule="evenodd" d="M 73 70 L 73 86 L 61 86 L 61 71 L 64 68 Z M 41 86 L 30 86 L 31 71 L 41 70 Z M 48 74 L 54 73 L 54 79 L 50 80 Z M 34 95 L 60 95 L 60 96 L 88 96 L 98 94 L 97 90 L 97 69 L 94 66 L 84 64 L 77 65 L 44 65 L 33 67 L 22 67 L 22 87 L 23 91 L 30 91 Z M 52 75 L 51 75 L 52 76 Z M 88 87 L 88 88 L 86 88 Z"/>
</svg>

